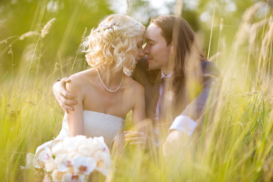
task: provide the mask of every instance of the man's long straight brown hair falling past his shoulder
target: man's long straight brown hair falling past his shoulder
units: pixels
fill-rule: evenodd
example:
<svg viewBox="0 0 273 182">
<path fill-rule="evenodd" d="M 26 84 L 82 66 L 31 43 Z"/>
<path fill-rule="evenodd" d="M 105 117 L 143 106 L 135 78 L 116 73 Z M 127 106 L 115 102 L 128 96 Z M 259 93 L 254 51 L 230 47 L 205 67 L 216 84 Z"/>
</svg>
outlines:
<svg viewBox="0 0 273 182">
<path fill-rule="evenodd" d="M 195 66 L 200 66 L 200 64 L 194 64 L 193 59 L 197 61 L 207 61 L 207 59 L 204 56 L 204 52 L 199 49 L 193 29 L 183 18 L 175 15 L 162 15 L 152 19 L 150 23 L 154 23 L 162 30 L 161 35 L 166 40 L 167 45 L 172 42 L 174 46 L 172 87 L 174 88 L 174 93 L 177 94 L 187 76 L 185 67 L 187 66 L 188 69 L 190 65 L 191 71 L 198 72 L 196 70 L 198 68 L 195 68 Z M 191 55 L 192 53 L 194 56 Z M 200 75 L 193 74 L 200 78 Z"/>
</svg>

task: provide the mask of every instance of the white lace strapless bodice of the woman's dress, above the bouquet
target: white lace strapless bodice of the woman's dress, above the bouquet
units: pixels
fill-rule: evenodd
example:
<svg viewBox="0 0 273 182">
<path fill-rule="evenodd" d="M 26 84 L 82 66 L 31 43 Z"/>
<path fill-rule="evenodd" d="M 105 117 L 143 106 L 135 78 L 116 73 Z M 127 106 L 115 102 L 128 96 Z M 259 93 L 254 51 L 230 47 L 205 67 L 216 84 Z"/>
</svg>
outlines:
<svg viewBox="0 0 273 182">
<path fill-rule="evenodd" d="M 83 110 L 84 135 L 87 137 L 103 136 L 110 147 L 114 137 L 122 130 L 124 120 L 118 116 Z M 66 113 L 62 120 L 62 129 L 56 139 L 70 136 Z"/>
</svg>

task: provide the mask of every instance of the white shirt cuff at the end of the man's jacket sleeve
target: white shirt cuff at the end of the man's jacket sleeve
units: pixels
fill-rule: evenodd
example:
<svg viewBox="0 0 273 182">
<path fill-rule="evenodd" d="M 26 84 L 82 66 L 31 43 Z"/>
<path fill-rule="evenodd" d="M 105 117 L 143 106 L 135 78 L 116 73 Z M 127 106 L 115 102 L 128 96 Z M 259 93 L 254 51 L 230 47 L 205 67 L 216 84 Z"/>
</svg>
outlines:
<svg viewBox="0 0 273 182">
<path fill-rule="evenodd" d="M 169 133 L 172 130 L 179 130 L 186 133 L 188 136 L 191 136 L 195 128 L 197 127 L 197 125 L 198 124 L 194 120 L 192 120 L 190 117 L 185 115 L 180 115 L 174 119 L 174 122 L 169 128 Z"/>
</svg>

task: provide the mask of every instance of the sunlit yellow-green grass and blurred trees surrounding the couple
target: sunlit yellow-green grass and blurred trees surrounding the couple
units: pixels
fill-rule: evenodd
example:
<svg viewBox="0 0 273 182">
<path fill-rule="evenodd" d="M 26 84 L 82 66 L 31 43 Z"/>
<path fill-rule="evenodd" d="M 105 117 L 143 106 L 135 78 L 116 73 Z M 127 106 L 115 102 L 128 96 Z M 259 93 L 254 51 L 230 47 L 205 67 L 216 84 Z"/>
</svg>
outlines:
<svg viewBox="0 0 273 182">
<path fill-rule="evenodd" d="M 88 68 L 79 45 L 113 13 L 146 27 L 159 15 L 183 17 L 224 79 L 217 114 L 208 114 L 197 147 L 184 151 L 171 177 L 141 153 L 119 161 L 111 180 L 272 181 L 272 7 L 272 0 L 0 1 L 0 181 L 22 181 L 26 153 L 58 135 L 63 111 L 52 83 Z M 129 113 L 124 128 L 131 125 Z"/>
</svg>

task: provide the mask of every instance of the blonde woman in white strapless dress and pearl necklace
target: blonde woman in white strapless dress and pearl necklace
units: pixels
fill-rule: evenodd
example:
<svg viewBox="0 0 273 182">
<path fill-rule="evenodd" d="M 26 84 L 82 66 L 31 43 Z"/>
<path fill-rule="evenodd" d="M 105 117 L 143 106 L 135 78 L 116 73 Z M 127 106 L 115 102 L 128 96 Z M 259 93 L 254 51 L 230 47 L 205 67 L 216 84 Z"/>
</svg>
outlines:
<svg viewBox="0 0 273 182">
<path fill-rule="evenodd" d="M 91 30 L 83 46 L 86 61 L 92 68 L 73 74 L 66 83 L 67 91 L 77 95 L 72 101 L 76 103 L 74 110 L 65 113 L 62 129 L 55 140 L 39 146 L 35 155 L 28 154 L 26 168 L 39 168 L 38 156 L 44 147 L 66 136 L 103 136 L 110 147 L 130 110 L 133 123 L 142 122 L 145 118 L 144 88 L 123 70 L 133 70 L 144 56 L 144 32 L 145 27 L 127 15 L 109 15 Z M 67 98 L 72 99 L 71 96 Z M 32 160 L 36 163 L 32 164 Z"/>
</svg>

